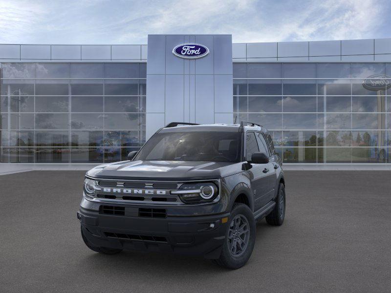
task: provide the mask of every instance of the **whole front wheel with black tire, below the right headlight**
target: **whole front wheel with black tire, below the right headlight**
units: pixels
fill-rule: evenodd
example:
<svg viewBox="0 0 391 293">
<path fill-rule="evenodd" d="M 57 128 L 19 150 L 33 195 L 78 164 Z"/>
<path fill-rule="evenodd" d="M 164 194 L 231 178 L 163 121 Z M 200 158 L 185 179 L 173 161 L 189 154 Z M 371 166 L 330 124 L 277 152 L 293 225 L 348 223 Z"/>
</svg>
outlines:
<svg viewBox="0 0 391 293">
<path fill-rule="evenodd" d="M 239 231 L 237 234 L 239 229 L 235 229 L 238 227 L 238 223 L 239 227 L 242 227 L 240 230 L 244 230 L 241 234 Z M 247 229 L 245 229 L 246 226 Z M 246 230 L 247 232 L 245 232 Z M 244 266 L 254 249 L 255 230 L 255 219 L 251 209 L 244 204 L 234 204 L 220 257 L 213 261 L 219 266 L 233 270 Z M 241 239 L 241 241 L 239 242 L 237 239 Z"/>
</svg>

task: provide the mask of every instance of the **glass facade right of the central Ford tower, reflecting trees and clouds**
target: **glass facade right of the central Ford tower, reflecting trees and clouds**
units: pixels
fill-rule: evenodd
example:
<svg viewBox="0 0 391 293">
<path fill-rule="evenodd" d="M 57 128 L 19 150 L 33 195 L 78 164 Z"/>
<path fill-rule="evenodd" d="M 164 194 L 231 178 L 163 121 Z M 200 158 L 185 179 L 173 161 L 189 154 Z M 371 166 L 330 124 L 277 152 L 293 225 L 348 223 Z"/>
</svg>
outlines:
<svg viewBox="0 0 391 293">
<path fill-rule="evenodd" d="M 271 130 L 284 163 L 391 163 L 391 63 L 234 63 L 234 121 Z M 391 80 L 388 80 L 391 83 Z"/>
</svg>

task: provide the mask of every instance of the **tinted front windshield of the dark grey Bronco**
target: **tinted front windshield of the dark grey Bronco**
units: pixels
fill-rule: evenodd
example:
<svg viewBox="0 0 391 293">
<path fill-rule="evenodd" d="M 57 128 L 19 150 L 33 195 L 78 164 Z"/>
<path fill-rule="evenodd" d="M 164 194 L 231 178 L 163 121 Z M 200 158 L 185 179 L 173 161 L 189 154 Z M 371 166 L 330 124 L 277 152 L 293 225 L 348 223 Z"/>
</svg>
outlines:
<svg viewBox="0 0 391 293">
<path fill-rule="evenodd" d="M 237 163 L 240 150 L 240 132 L 156 133 L 133 160 Z"/>
</svg>

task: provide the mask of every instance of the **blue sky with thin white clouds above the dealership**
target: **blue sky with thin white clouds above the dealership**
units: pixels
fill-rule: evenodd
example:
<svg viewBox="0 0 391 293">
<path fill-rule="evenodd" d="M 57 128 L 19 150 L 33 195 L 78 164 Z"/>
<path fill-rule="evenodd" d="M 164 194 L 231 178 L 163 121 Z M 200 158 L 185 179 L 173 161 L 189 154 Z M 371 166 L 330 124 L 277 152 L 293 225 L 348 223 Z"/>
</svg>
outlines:
<svg viewBox="0 0 391 293">
<path fill-rule="evenodd" d="M 148 34 L 233 42 L 391 37 L 389 0 L 0 0 L 0 43 L 145 44 Z"/>
</svg>

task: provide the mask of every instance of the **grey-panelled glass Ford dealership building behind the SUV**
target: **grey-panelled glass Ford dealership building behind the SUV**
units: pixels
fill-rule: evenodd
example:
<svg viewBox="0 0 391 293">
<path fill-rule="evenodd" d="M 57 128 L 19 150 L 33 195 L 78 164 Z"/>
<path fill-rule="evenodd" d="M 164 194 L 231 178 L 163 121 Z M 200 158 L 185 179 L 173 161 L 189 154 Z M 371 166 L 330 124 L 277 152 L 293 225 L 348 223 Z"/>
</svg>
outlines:
<svg viewBox="0 0 391 293">
<path fill-rule="evenodd" d="M 244 120 L 270 130 L 287 164 L 387 166 L 390 86 L 391 39 L 0 44 L 0 163 L 115 162 L 170 122 Z"/>
</svg>

